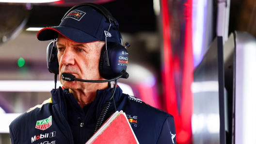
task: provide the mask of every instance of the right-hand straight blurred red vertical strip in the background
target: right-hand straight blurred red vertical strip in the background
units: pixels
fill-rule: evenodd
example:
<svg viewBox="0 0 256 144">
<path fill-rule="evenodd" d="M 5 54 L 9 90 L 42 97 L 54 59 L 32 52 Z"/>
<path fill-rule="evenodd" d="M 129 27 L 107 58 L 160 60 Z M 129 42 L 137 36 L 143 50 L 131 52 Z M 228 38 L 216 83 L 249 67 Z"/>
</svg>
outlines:
<svg viewBox="0 0 256 144">
<path fill-rule="evenodd" d="M 183 64 L 183 78 L 182 78 L 182 101 L 181 101 L 181 124 L 182 132 L 187 135 L 186 139 L 181 142 L 192 143 L 192 109 L 193 96 L 191 85 L 193 82 L 193 49 L 192 49 L 192 0 L 187 0 L 185 3 L 185 43 L 184 43 L 184 64 Z M 182 135 L 177 135 L 177 138 Z M 186 143 L 186 144 L 187 144 Z"/>
</svg>

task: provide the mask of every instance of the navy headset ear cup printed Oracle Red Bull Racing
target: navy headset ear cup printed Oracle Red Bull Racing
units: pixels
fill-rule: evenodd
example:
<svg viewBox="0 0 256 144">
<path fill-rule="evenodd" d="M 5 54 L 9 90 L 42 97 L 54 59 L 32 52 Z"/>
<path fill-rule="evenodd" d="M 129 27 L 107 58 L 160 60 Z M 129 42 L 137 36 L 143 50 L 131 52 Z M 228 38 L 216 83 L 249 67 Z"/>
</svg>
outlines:
<svg viewBox="0 0 256 144">
<path fill-rule="evenodd" d="M 126 71 L 128 65 L 128 51 L 119 43 L 107 43 L 110 66 L 106 64 L 106 47 L 101 49 L 99 59 L 99 73 L 104 79 L 117 77 L 121 71 Z"/>
</svg>

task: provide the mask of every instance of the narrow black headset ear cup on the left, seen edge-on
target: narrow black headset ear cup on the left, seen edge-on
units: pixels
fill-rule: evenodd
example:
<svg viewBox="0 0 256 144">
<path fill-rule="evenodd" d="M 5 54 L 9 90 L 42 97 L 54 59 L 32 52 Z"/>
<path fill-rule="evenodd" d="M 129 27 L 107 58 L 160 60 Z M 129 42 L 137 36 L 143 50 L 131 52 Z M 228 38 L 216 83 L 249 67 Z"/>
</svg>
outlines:
<svg viewBox="0 0 256 144">
<path fill-rule="evenodd" d="M 54 45 L 53 45 L 54 44 Z M 51 43 L 48 44 L 47 46 L 47 67 L 49 72 L 54 73 L 54 74 L 59 74 L 59 62 L 58 62 L 58 57 L 57 57 L 57 46 L 56 46 L 56 41 L 52 41 Z"/>
</svg>

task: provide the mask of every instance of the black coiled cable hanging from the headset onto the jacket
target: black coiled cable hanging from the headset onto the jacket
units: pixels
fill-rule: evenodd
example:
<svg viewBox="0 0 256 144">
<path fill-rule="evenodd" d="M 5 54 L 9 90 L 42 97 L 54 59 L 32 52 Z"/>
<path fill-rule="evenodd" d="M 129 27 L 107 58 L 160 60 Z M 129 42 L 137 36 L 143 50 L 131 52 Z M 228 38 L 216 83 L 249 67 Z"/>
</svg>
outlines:
<svg viewBox="0 0 256 144">
<path fill-rule="evenodd" d="M 94 130 L 94 133 L 101 127 L 102 123 L 103 123 L 103 120 L 105 118 L 105 116 L 107 115 L 107 112 L 109 110 L 109 107 L 111 105 L 111 100 L 114 99 L 114 93 L 115 93 L 115 88 L 116 88 L 116 85 L 117 85 L 117 80 L 115 80 L 115 83 L 114 83 L 114 88 L 112 89 L 112 96 L 109 100 L 106 101 L 106 103 L 104 104 L 104 107 L 99 115 L 99 118 L 98 118 L 98 121 L 96 123 L 96 127 L 95 127 L 95 130 Z M 113 104 L 114 104 L 114 108 L 115 108 L 115 111 L 116 111 L 116 107 L 115 107 L 115 103 L 113 101 Z"/>
</svg>

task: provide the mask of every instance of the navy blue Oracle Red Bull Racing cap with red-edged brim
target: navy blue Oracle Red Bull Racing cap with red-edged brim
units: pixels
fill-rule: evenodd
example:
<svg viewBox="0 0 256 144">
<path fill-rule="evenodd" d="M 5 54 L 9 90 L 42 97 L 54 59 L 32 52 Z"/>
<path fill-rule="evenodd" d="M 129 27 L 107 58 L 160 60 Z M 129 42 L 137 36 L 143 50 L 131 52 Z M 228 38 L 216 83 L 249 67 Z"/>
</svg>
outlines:
<svg viewBox="0 0 256 144">
<path fill-rule="evenodd" d="M 95 41 L 122 43 L 121 34 L 112 20 L 109 20 L 96 8 L 83 5 L 70 11 L 56 27 L 47 27 L 37 33 L 39 41 L 58 38 L 58 33 L 76 43 L 90 43 Z M 110 27 L 111 23 L 111 27 Z"/>
</svg>

